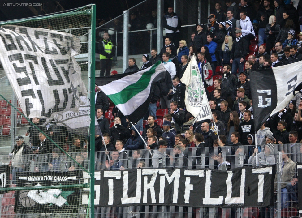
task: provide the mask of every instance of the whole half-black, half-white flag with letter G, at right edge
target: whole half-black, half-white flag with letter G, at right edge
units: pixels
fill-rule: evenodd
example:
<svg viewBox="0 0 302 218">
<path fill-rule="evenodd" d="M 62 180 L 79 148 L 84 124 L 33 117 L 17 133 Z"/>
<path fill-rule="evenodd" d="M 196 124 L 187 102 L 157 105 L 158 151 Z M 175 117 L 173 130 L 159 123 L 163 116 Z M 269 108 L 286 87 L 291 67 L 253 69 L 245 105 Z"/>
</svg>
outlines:
<svg viewBox="0 0 302 218">
<path fill-rule="evenodd" d="M 302 83 L 302 61 L 264 70 L 250 71 L 255 130 L 284 109 Z"/>
</svg>

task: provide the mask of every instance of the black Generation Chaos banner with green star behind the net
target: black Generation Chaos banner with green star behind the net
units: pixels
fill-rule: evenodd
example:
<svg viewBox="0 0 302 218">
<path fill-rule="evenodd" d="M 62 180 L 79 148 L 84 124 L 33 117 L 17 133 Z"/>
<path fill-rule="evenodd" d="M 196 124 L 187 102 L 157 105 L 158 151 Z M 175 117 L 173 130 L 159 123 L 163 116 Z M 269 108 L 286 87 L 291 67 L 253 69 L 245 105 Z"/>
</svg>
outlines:
<svg viewBox="0 0 302 218">
<path fill-rule="evenodd" d="M 66 173 L 17 172 L 17 187 L 37 190 L 18 190 L 15 196 L 15 213 L 79 213 L 80 188 L 44 189 L 43 186 L 79 184 L 82 172 Z"/>
</svg>

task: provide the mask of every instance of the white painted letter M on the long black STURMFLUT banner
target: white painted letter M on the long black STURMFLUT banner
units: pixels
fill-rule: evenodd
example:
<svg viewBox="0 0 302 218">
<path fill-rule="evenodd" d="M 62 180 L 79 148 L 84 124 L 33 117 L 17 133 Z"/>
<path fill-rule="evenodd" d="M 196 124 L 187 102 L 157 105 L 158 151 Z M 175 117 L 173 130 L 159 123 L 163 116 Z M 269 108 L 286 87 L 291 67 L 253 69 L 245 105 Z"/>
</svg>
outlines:
<svg viewBox="0 0 302 218">
<path fill-rule="evenodd" d="M 173 203 L 177 203 L 180 169 L 175 169 L 171 176 L 168 175 L 166 169 L 160 169 L 159 174 L 165 175 L 160 177 L 159 203 L 164 203 L 165 199 L 165 177 L 169 184 L 174 180 Z"/>
</svg>

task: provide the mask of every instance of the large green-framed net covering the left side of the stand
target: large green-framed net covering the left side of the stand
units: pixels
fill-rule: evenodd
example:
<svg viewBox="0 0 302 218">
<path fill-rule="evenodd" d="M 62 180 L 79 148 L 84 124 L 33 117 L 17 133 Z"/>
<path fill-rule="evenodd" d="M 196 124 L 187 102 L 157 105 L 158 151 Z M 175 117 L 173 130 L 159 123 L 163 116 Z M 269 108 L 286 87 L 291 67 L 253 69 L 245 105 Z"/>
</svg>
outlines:
<svg viewBox="0 0 302 218">
<path fill-rule="evenodd" d="M 1 217 L 88 215 L 92 10 L 0 24 Z"/>
</svg>

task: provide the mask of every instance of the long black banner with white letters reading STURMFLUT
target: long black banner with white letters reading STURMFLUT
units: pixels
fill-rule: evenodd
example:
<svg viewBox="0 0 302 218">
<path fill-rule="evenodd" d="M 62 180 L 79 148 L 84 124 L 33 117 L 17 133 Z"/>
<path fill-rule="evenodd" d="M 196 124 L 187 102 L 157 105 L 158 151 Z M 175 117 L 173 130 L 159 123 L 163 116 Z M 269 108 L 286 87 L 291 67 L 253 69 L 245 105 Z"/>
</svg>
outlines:
<svg viewBox="0 0 302 218">
<path fill-rule="evenodd" d="M 131 169 L 95 174 L 95 207 L 181 205 L 263 207 L 274 204 L 274 166 Z"/>
</svg>

